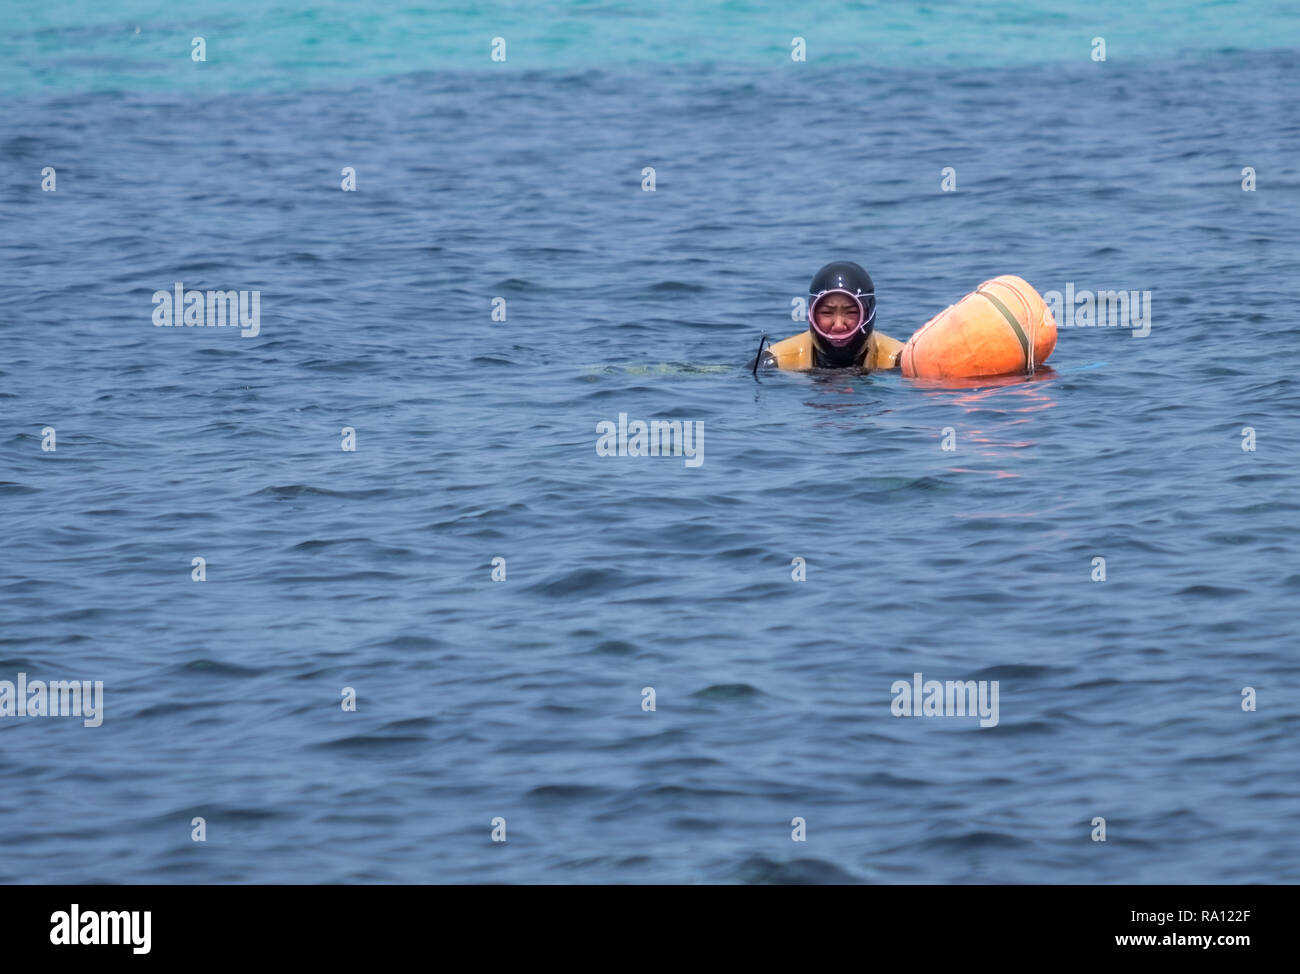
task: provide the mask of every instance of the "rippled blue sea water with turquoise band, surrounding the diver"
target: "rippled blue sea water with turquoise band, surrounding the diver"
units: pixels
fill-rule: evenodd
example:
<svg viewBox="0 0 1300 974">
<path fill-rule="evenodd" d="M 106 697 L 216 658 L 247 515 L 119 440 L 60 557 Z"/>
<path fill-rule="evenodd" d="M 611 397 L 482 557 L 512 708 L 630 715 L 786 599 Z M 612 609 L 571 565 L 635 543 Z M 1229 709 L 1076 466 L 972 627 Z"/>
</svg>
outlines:
<svg viewBox="0 0 1300 974">
<path fill-rule="evenodd" d="M 1295 7 L 0 13 L 0 880 L 1300 880 Z M 1149 333 L 751 376 L 837 259 Z"/>
</svg>

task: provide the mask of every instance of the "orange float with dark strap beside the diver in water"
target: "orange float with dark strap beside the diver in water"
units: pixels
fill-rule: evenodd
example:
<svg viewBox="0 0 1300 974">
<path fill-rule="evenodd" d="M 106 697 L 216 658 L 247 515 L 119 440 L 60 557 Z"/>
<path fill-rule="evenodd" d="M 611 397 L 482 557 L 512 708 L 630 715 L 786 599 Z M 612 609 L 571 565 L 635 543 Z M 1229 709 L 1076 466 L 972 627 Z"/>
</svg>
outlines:
<svg viewBox="0 0 1300 974">
<path fill-rule="evenodd" d="M 1056 349 L 1056 319 L 1028 281 L 985 281 L 922 325 L 904 346 L 909 378 L 1032 373 Z"/>
</svg>

